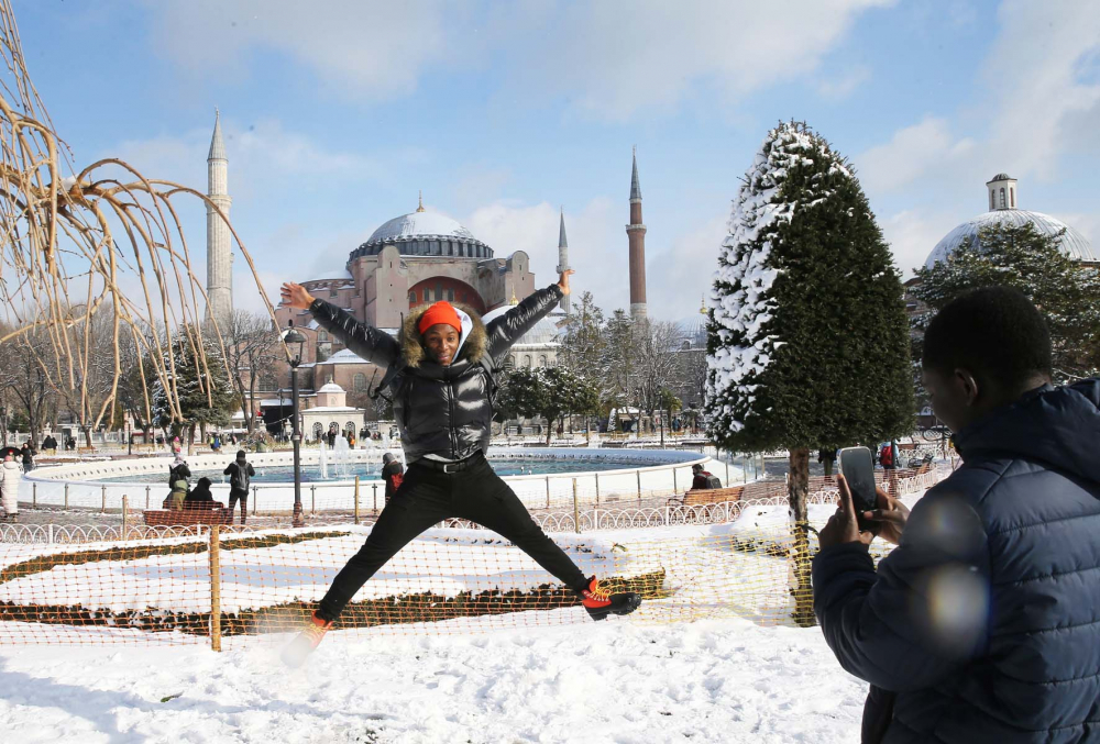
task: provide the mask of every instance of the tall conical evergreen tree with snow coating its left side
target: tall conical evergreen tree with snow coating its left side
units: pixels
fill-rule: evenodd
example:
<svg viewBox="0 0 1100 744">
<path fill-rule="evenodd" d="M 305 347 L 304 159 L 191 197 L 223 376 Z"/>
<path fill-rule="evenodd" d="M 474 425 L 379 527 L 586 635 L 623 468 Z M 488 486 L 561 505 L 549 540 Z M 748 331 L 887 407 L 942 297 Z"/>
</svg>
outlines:
<svg viewBox="0 0 1100 744">
<path fill-rule="evenodd" d="M 794 617 L 812 624 L 811 448 L 912 429 L 901 278 L 853 168 L 800 122 L 768 133 L 728 233 L 708 300 L 708 433 L 732 451 L 790 452 Z"/>
</svg>

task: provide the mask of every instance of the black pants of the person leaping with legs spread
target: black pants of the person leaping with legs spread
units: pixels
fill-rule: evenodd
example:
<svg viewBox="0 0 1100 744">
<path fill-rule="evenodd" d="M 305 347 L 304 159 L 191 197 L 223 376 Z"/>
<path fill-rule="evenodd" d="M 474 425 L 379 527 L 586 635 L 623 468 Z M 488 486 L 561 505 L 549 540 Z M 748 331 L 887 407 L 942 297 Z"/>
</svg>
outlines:
<svg viewBox="0 0 1100 744">
<path fill-rule="evenodd" d="M 515 492 L 477 454 L 459 473 L 440 473 L 418 463 L 409 466 L 397 495 L 382 510 L 363 547 L 337 574 L 317 614 L 324 620 L 339 618 L 360 587 L 398 551 L 452 517 L 501 534 L 570 589 L 587 588 L 581 569 L 547 537 Z"/>
</svg>

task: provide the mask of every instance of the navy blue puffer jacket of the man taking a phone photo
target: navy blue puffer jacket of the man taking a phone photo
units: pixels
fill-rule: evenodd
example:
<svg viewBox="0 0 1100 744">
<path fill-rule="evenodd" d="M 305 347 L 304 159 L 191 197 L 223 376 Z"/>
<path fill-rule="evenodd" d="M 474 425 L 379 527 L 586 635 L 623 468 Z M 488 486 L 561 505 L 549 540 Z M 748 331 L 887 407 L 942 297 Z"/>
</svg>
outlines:
<svg viewBox="0 0 1100 744">
<path fill-rule="evenodd" d="M 814 609 L 884 741 L 1100 742 L 1100 379 L 1044 386 L 960 432 L 965 465 L 875 570 L 814 558 Z M 882 708 L 892 701 L 892 714 Z M 879 707 L 879 709 L 876 709 Z"/>
</svg>

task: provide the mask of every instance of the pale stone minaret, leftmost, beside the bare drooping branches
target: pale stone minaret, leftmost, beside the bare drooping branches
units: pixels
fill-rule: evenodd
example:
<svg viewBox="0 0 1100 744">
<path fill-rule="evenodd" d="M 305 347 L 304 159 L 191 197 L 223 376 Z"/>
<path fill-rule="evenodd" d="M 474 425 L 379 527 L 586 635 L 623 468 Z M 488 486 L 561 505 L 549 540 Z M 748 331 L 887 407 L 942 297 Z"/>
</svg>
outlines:
<svg viewBox="0 0 1100 744">
<path fill-rule="evenodd" d="M 221 141 L 221 115 L 215 110 L 213 137 L 207 156 L 207 196 L 226 218 L 233 200 L 229 198 L 229 160 Z M 207 204 L 207 320 L 218 319 L 222 333 L 229 330 L 233 314 L 233 253 L 229 225 Z"/>
</svg>

